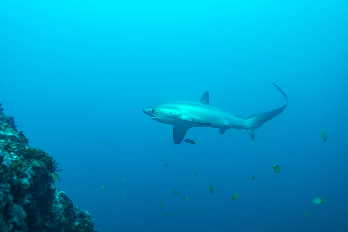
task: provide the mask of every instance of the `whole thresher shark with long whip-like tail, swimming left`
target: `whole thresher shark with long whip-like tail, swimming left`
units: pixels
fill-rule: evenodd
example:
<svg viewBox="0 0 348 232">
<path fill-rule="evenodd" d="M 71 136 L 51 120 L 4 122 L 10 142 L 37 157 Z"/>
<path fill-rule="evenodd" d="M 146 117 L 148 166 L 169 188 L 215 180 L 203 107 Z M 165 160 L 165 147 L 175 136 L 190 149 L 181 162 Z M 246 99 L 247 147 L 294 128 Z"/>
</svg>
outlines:
<svg viewBox="0 0 348 232">
<path fill-rule="evenodd" d="M 245 129 L 252 140 L 255 140 L 255 131 L 269 120 L 282 113 L 288 103 L 288 98 L 283 90 L 272 83 L 283 94 L 286 104 L 277 109 L 256 114 L 247 118 L 238 117 L 209 104 L 209 93 L 206 91 L 199 102 L 167 101 L 153 104 L 143 109 L 153 120 L 174 125 L 174 143 L 179 144 L 184 139 L 185 133 L 192 127 L 213 127 L 225 133 L 229 129 Z"/>
</svg>

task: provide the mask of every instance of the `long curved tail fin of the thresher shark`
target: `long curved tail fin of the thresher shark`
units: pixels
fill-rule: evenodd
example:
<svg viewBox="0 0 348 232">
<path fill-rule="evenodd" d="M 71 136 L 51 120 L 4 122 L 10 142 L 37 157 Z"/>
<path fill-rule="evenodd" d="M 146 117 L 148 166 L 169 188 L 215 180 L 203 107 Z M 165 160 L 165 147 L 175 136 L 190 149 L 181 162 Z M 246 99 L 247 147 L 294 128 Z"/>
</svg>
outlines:
<svg viewBox="0 0 348 232">
<path fill-rule="evenodd" d="M 274 84 L 277 87 L 277 89 L 283 94 L 283 96 L 286 100 L 286 104 L 278 109 L 274 109 L 274 110 L 264 112 L 261 114 L 256 114 L 256 115 L 253 115 L 253 116 L 246 118 L 246 120 L 247 120 L 246 130 L 248 131 L 252 140 L 255 140 L 255 131 L 259 130 L 260 127 L 263 126 L 265 123 L 267 123 L 269 120 L 271 120 L 272 118 L 274 118 L 278 114 L 282 113 L 287 105 L 288 99 L 287 99 L 287 96 L 284 93 L 284 91 L 281 90 L 275 83 L 272 83 L 272 84 Z"/>
</svg>

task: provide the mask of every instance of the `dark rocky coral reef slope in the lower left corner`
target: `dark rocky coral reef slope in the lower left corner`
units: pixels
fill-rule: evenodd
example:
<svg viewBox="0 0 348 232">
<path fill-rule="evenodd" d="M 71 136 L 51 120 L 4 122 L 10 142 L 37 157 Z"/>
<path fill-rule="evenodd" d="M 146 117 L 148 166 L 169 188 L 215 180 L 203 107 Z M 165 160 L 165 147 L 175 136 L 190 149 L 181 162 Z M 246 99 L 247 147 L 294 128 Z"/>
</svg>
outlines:
<svg viewBox="0 0 348 232">
<path fill-rule="evenodd" d="M 79 210 L 54 182 L 57 164 L 28 145 L 0 103 L 0 231 L 96 232 L 89 213 Z"/>
</svg>

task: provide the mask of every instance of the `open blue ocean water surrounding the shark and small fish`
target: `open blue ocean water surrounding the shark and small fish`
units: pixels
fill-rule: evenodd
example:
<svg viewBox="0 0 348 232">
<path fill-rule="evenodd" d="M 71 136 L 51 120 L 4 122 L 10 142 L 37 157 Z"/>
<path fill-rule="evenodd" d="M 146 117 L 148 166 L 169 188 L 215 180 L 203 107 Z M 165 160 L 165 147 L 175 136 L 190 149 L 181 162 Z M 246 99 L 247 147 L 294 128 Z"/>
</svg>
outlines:
<svg viewBox="0 0 348 232">
<path fill-rule="evenodd" d="M 347 231 L 347 15 L 339 0 L 1 1 L 2 106 L 100 232 Z M 272 82 L 289 103 L 255 141 L 193 127 L 197 146 L 175 144 L 142 112 L 209 91 L 246 118 L 285 104 Z"/>
</svg>

